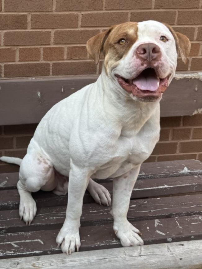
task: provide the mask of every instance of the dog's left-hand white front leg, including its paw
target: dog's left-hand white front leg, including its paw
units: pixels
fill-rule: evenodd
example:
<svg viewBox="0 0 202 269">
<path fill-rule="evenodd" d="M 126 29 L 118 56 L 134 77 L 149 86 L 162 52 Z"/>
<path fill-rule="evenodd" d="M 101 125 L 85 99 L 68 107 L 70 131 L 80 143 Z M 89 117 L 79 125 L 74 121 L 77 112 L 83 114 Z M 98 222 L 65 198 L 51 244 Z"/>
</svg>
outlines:
<svg viewBox="0 0 202 269">
<path fill-rule="evenodd" d="M 90 170 L 87 167 L 79 167 L 71 161 L 68 202 L 65 222 L 57 235 L 56 243 L 61 245 L 62 252 L 67 255 L 79 251 L 80 236 L 80 217 L 82 214 L 83 196 L 90 179 Z"/>
</svg>

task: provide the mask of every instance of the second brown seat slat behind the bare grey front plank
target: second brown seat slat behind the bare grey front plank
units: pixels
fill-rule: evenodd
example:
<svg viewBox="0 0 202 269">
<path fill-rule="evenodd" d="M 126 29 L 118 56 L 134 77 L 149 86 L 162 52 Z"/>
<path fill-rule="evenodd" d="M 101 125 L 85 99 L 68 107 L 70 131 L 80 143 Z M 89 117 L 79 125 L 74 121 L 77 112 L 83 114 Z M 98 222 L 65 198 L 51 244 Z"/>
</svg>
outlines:
<svg viewBox="0 0 202 269">
<path fill-rule="evenodd" d="M 82 226 L 112 223 L 111 207 L 84 204 L 81 216 Z M 141 221 L 158 218 L 172 218 L 202 213 L 202 196 L 187 195 L 131 200 L 128 220 Z M 18 209 L 0 211 L 0 233 L 30 232 L 59 229 L 65 220 L 66 206 L 39 207 L 30 226 L 20 220 Z M 156 220 L 156 225 L 158 221 Z"/>
</svg>

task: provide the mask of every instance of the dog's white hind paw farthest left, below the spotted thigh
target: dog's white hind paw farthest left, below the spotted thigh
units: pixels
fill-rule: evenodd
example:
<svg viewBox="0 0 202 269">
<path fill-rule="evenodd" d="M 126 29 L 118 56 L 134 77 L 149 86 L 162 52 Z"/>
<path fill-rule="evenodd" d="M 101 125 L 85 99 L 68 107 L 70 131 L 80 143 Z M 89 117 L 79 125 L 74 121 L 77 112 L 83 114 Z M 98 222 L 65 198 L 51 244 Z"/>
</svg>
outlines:
<svg viewBox="0 0 202 269">
<path fill-rule="evenodd" d="M 26 225 L 30 225 L 37 212 L 37 206 L 34 199 L 26 199 L 22 201 L 20 199 L 19 215 L 20 219 L 23 219 Z"/>
</svg>

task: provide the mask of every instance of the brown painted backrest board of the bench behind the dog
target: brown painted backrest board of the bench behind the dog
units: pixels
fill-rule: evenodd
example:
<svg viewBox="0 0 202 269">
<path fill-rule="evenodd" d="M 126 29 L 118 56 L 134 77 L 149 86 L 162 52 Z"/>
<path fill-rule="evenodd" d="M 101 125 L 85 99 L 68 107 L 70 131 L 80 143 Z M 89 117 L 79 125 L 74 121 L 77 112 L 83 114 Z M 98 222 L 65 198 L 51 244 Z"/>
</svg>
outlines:
<svg viewBox="0 0 202 269">
<path fill-rule="evenodd" d="M 11 79 L 0 82 L 0 125 L 38 123 L 58 101 L 97 75 L 43 79 Z M 161 117 L 192 115 L 202 108 L 200 79 L 173 79 L 161 101 Z"/>
</svg>

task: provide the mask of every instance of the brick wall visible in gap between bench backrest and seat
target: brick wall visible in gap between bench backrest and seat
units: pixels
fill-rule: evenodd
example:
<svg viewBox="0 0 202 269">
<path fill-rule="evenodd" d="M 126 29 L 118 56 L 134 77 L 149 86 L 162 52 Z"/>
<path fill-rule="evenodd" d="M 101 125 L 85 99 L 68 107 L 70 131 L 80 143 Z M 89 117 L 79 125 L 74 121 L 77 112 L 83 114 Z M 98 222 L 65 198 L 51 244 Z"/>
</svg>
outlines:
<svg viewBox="0 0 202 269">
<path fill-rule="evenodd" d="M 0 127 L 0 156 L 24 157 L 37 125 Z M 160 141 L 147 161 L 196 159 L 202 161 L 202 115 L 161 118 Z M 18 166 L 0 161 L 0 173 Z"/>
</svg>

